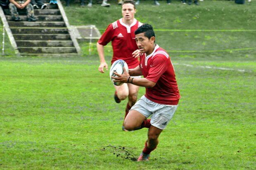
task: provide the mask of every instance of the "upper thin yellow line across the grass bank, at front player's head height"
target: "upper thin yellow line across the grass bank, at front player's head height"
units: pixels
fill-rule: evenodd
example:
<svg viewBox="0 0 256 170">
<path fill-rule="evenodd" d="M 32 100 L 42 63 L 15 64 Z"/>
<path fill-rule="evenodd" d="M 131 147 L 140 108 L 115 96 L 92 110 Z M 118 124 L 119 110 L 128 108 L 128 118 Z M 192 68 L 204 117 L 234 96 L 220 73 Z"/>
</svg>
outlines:
<svg viewBox="0 0 256 170">
<path fill-rule="evenodd" d="M 106 30 L 100 28 L 99 30 Z M 254 32 L 256 30 L 171 30 L 171 29 L 154 29 L 154 31 L 172 31 L 172 32 Z"/>
</svg>

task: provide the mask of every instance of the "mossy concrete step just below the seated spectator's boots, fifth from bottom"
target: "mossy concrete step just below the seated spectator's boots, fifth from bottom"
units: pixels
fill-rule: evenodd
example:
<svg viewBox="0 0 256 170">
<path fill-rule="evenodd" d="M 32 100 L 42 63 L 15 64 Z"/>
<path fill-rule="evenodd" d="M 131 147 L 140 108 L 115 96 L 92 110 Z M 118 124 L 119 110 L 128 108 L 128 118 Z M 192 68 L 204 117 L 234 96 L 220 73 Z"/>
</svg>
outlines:
<svg viewBox="0 0 256 170">
<path fill-rule="evenodd" d="M 27 21 L 9 21 L 10 27 L 65 27 L 66 24 L 64 22 L 27 22 Z"/>
</svg>

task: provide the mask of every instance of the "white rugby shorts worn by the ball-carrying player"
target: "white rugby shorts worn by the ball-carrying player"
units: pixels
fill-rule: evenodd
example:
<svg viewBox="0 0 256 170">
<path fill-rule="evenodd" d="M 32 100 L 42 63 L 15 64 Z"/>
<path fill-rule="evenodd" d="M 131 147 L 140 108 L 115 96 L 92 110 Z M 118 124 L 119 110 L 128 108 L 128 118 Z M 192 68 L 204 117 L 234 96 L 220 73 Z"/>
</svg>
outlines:
<svg viewBox="0 0 256 170">
<path fill-rule="evenodd" d="M 151 116 L 151 125 L 159 129 L 165 129 L 178 105 L 162 105 L 152 102 L 143 95 L 130 110 L 136 110 L 146 118 Z"/>
</svg>

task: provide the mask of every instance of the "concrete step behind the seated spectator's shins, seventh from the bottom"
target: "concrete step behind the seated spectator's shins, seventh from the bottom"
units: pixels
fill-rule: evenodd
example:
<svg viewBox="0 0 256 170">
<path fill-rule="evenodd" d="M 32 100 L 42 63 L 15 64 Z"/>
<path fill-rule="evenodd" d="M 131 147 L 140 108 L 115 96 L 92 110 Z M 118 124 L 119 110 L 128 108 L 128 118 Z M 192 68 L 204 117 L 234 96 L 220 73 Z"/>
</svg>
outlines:
<svg viewBox="0 0 256 170">
<path fill-rule="evenodd" d="M 5 15 L 11 15 L 9 9 L 4 9 Z M 59 9 L 34 9 L 35 16 L 37 15 L 61 15 Z M 19 10 L 19 15 L 26 15 L 26 10 Z"/>
</svg>

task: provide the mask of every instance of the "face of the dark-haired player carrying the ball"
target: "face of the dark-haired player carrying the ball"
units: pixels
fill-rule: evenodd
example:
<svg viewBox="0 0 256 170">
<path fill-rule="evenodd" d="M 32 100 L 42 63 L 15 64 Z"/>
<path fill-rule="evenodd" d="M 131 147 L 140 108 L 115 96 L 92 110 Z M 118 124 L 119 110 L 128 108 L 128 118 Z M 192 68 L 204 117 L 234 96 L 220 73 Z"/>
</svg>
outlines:
<svg viewBox="0 0 256 170">
<path fill-rule="evenodd" d="M 147 55 L 151 54 L 154 51 L 154 40 L 155 37 L 145 37 L 144 33 L 139 33 L 135 35 L 136 44 L 142 53 L 146 53 Z"/>
</svg>

